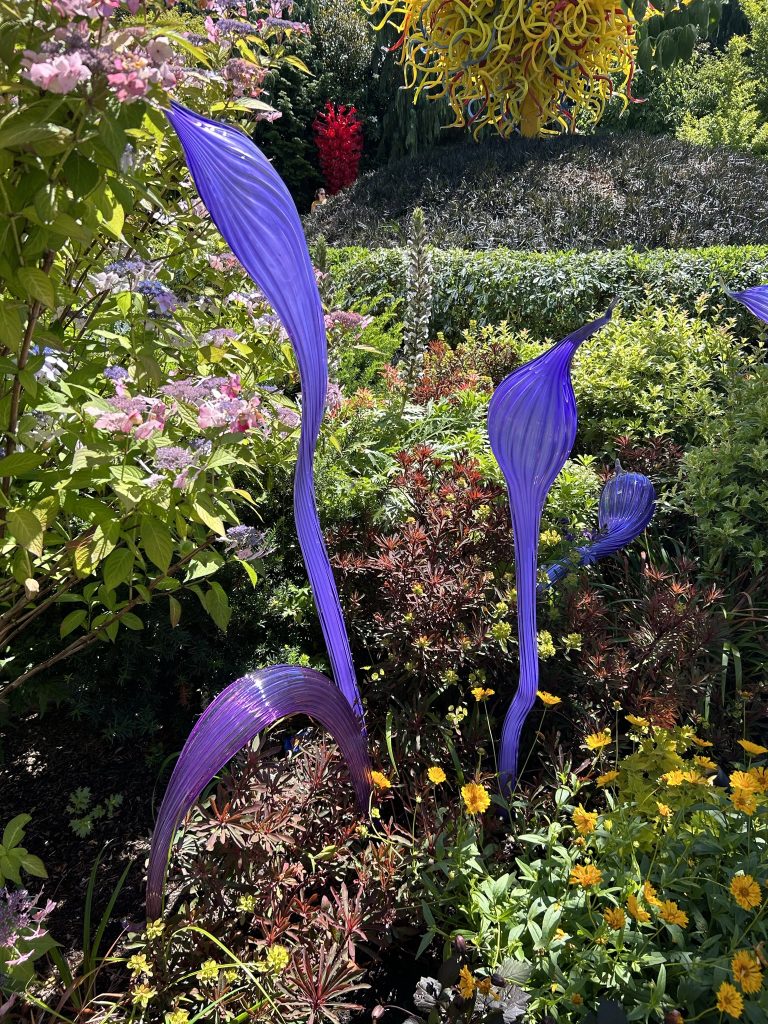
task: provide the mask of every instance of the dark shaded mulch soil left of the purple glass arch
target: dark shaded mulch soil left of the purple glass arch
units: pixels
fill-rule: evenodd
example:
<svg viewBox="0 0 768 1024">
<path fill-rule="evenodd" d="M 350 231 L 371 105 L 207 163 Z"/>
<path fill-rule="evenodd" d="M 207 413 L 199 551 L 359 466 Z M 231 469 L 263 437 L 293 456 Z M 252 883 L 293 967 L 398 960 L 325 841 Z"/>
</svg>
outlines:
<svg viewBox="0 0 768 1024">
<path fill-rule="evenodd" d="M 155 753 L 155 752 L 153 752 Z M 140 745 L 111 748 L 90 728 L 60 714 L 14 719 L 0 739 L 0 825 L 16 814 L 32 815 L 25 846 L 42 858 L 48 881 L 40 883 L 56 903 L 51 934 L 65 949 L 82 943 L 83 913 L 93 865 L 99 852 L 93 916 L 97 923 L 126 865 L 133 863 L 115 905 L 106 941 L 121 921 L 143 916 L 144 862 L 153 813 L 163 795 L 167 772 L 156 758 L 147 764 Z M 85 839 L 70 826 L 67 805 L 73 791 L 88 786 L 93 804 L 112 794 L 123 803 L 111 820 L 100 819 Z M 36 880 L 27 880 L 32 889 Z"/>
</svg>

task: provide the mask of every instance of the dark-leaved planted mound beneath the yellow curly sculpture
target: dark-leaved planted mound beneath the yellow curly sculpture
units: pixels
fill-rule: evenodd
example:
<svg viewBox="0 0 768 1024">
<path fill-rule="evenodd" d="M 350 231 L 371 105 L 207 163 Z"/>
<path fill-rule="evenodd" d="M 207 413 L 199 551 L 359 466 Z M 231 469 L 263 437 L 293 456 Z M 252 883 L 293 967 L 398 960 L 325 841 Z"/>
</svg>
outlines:
<svg viewBox="0 0 768 1024">
<path fill-rule="evenodd" d="M 306 226 L 334 246 L 402 245 L 421 207 L 442 249 L 759 244 L 766 184 L 761 160 L 671 138 L 488 139 L 380 168 Z"/>
</svg>

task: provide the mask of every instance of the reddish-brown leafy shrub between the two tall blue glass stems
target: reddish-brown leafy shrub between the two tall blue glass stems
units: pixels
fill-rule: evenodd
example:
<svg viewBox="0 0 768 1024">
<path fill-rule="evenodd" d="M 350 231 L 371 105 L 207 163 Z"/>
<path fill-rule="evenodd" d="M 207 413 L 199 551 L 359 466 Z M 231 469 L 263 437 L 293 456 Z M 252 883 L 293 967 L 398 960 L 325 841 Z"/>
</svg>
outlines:
<svg viewBox="0 0 768 1024">
<path fill-rule="evenodd" d="M 514 635 L 511 526 L 502 487 L 476 460 L 445 460 L 426 444 L 396 456 L 392 486 L 410 507 L 385 532 L 339 527 L 330 541 L 351 626 L 375 660 L 436 681 L 446 671 L 501 668 L 492 629 Z"/>
</svg>

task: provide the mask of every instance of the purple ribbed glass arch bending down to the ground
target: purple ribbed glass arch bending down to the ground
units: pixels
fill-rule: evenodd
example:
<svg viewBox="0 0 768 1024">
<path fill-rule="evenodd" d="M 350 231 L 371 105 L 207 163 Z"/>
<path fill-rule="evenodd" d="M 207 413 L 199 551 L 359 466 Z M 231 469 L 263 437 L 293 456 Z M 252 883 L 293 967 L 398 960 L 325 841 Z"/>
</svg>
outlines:
<svg viewBox="0 0 768 1024">
<path fill-rule="evenodd" d="M 184 743 L 168 783 L 150 851 L 146 911 L 162 910 L 173 835 L 210 780 L 262 729 L 291 715 L 308 715 L 331 733 L 352 775 L 357 803 L 368 807 L 371 769 L 360 723 L 339 689 L 313 669 L 273 665 L 238 679 L 208 706 Z"/>
</svg>

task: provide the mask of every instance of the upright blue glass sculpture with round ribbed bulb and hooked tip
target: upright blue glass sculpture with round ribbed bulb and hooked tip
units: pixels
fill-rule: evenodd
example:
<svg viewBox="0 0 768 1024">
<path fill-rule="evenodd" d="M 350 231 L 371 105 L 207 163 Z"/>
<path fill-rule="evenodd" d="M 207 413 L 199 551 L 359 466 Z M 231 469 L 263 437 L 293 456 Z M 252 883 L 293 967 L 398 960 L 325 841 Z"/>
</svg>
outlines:
<svg viewBox="0 0 768 1024">
<path fill-rule="evenodd" d="M 579 346 L 608 323 L 612 308 L 510 374 L 488 406 L 490 447 L 507 481 L 512 513 L 520 658 L 519 684 L 502 733 L 499 768 L 503 790 L 511 788 L 517 777 L 520 733 L 539 688 L 539 531 L 547 495 L 575 440 L 570 364 Z"/>
</svg>

